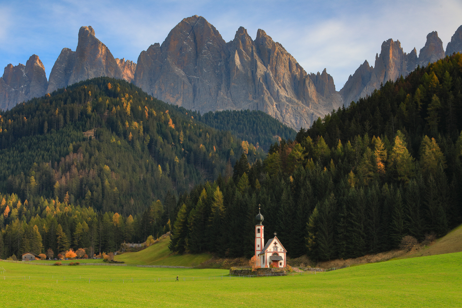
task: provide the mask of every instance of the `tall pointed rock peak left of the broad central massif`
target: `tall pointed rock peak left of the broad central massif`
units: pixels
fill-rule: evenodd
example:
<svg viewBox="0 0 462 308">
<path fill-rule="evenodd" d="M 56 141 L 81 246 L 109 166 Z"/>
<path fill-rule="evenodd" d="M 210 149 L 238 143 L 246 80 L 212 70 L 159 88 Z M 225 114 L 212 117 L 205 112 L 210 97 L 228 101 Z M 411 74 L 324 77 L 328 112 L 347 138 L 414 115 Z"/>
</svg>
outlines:
<svg viewBox="0 0 462 308">
<path fill-rule="evenodd" d="M 136 64 L 125 59 L 115 59 L 91 26 L 80 27 L 79 42 L 75 51 L 63 48 L 53 66 L 48 92 L 72 85 L 85 79 L 107 76 L 133 80 Z"/>
</svg>

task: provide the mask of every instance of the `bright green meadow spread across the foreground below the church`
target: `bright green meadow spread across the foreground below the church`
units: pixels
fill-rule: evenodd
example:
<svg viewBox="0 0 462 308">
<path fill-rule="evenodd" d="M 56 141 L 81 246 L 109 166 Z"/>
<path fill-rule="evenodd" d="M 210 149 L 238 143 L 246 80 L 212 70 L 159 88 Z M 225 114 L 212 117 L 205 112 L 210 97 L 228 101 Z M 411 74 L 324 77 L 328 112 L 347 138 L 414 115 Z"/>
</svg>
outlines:
<svg viewBox="0 0 462 308">
<path fill-rule="evenodd" d="M 4 275 L 7 276 L 5 280 L 0 277 L 2 306 L 9 308 L 63 304 L 82 307 L 250 307 L 264 304 L 262 295 L 269 296 L 268 304 L 280 303 L 288 307 L 462 306 L 462 253 L 366 264 L 316 275 L 231 280 L 221 280 L 220 275 L 226 271 L 216 269 L 27 266 L 0 262 L 1 266 L 6 269 Z M 161 282 L 141 280 L 173 278 L 177 274 L 179 282 L 173 279 Z M 29 280 L 29 275 L 47 279 Z M 55 280 L 51 280 L 52 275 Z M 57 283 L 55 276 L 59 277 Z M 193 276 L 210 276 L 212 280 L 181 281 L 183 277 Z M 131 277 L 135 278 L 133 283 Z M 103 280 L 96 280 L 98 278 Z M 110 282 L 111 278 L 113 282 Z M 127 280 L 122 283 L 120 278 Z M 89 283 L 88 279 L 95 280 Z"/>
</svg>

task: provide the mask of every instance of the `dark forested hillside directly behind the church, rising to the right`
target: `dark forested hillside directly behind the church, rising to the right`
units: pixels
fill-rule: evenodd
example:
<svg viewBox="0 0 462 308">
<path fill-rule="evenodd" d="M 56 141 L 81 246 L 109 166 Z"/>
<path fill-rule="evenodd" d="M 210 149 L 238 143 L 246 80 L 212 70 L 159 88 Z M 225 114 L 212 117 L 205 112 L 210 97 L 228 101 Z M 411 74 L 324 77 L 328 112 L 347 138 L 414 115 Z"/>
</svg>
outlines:
<svg viewBox="0 0 462 308">
<path fill-rule="evenodd" d="M 171 250 L 250 257 L 261 204 L 266 240 L 288 254 L 351 258 L 405 235 L 444 235 L 461 222 L 462 55 L 418 67 L 318 119 L 261 163 L 183 194 Z"/>
</svg>

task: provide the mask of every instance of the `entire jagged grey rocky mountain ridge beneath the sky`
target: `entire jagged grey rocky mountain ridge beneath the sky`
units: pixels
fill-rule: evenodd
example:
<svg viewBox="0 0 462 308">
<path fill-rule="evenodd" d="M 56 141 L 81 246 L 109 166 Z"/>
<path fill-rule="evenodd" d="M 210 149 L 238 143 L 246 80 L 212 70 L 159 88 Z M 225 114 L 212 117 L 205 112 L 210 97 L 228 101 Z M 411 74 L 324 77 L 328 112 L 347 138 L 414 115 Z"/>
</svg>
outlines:
<svg viewBox="0 0 462 308">
<path fill-rule="evenodd" d="M 114 58 L 95 30 L 82 26 L 77 48 L 61 50 L 48 80 L 36 55 L 32 61 L 36 64 L 5 67 L 0 78 L 0 109 L 80 80 L 106 76 L 125 79 L 165 102 L 201 113 L 261 110 L 298 129 L 370 95 L 388 80 L 457 51 L 462 52 L 462 26 L 451 37 L 446 52 L 436 31 L 427 35 L 419 56 L 416 48 L 407 54 L 399 40 L 388 39 L 383 41 L 374 66 L 365 61 L 336 91 L 326 69 L 308 74 L 286 48 L 261 29 L 252 40 L 247 30 L 239 27 L 234 39 L 225 42 L 212 24 L 194 15 L 183 18 L 162 44 L 141 51 L 134 63 Z"/>
</svg>

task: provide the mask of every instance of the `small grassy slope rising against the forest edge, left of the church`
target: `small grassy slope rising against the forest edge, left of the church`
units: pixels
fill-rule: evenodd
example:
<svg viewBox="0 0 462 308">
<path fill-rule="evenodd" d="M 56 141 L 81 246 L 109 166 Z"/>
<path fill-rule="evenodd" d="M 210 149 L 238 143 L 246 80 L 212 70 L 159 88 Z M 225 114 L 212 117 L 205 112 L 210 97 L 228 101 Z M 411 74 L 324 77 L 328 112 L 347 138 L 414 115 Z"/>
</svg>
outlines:
<svg viewBox="0 0 462 308">
<path fill-rule="evenodd" d="M 136 253 L 125 253 L 114 257 L 116 261 L 124 261 L 127 264 L 140 265 L 176 265 L 176 266 L 197 266 L 209 260 L 210 254 L 170 254 L 170 238 Z"/>
</svg>

